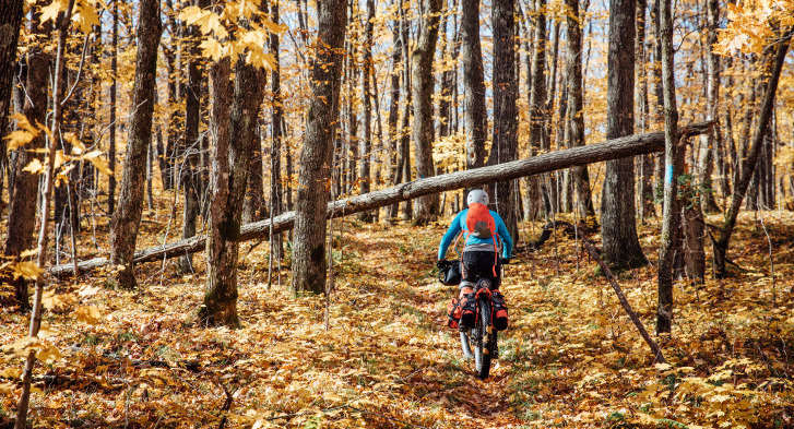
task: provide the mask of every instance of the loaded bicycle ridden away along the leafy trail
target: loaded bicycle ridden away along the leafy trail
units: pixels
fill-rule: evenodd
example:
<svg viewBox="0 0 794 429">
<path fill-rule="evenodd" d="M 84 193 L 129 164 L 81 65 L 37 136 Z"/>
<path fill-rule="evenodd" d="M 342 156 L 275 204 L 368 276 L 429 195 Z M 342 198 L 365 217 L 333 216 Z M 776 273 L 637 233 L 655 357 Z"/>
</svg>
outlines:
<svg viewBox="0 0 794 429">
<path fill-rule="evenodd" d="M 508 260 L 501 260 L 503 265 Z M 503 274 L 503 271 L 502 273 Z M 502 277 L 502 276 L 500 276 Z M 479 278 L 474 287 L 475 317 L 474 326 L 461 330 L 461 348 L 467 359 L 474 359 L 474 368 L 482 380 L 488 378 L 490 362 L 497 353 L 497 330 L 491 318 L 493 302 L 490 279 Z M 472 354 L 472 345 L 474 353 Z"/>
</svg>

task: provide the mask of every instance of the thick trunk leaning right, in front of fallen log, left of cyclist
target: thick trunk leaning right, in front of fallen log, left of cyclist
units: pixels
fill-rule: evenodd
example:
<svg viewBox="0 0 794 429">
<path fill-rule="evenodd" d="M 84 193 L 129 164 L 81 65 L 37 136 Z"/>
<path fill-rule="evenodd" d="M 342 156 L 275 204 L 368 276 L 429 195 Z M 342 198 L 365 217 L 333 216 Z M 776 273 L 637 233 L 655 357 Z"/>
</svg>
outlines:
<svg viewBox="0 0 794 429">
<path fill-rule="evenodd" d="M 347 9 L 344 0 L 318 0 L 317 59 L 311 65 L 309 112 L 300 153 L 293 239 L 293 288 L 325 290 L 325 212 Z"/>
</svg>

